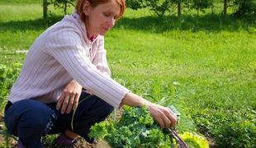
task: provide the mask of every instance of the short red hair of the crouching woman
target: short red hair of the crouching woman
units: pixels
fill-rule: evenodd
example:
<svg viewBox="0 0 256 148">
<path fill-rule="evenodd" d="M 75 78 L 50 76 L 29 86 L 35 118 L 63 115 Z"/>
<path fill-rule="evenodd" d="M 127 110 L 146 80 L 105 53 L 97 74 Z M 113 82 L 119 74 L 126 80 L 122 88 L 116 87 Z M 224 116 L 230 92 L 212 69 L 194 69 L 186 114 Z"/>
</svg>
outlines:
<svg viewBox="0 0 256 148">
<path fill-rule="evenodd" d="M 84 5 L 84 2 L 86 1 L 90 2 L 91 7 L 97 7 L 97 5 L 110 2 L 111 0 L 78 0 L 75 9 L 78 15 L 80 16 L 81 20 L 83 20 L 83 22 L 85 22 L 86 20 L 86 15 L 83 13 L 83 5 Z M 126 10 L 126 0 L 115 0 L 115 1 L 119 4 L 121 8 L 120 14 L 116 17 L 116 19 L 119 19 L 121 16 L 123 16 Z"/>
</svg>

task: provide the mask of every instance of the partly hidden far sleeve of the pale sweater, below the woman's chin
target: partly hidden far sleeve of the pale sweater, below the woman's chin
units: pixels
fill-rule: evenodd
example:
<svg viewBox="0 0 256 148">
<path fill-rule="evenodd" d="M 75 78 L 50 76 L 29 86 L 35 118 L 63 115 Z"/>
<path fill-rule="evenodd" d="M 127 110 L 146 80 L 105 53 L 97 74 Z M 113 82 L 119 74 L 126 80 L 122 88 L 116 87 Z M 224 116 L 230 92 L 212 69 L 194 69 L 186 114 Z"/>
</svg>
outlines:
<svg viewBox="0 0 256 148">
<path fill-rule="evenodd" d="M 107 55 L 106 49 L 104 49 L 104 38 L 101 37 L 99 39 L 99 43 L 97 46 L 97 53 L 92 60 L 93 65 L 97 67 L 97 69 L 102 72 L 106 76 L 111 76 L 111 71 L 107 64 Z"/>
</svg>

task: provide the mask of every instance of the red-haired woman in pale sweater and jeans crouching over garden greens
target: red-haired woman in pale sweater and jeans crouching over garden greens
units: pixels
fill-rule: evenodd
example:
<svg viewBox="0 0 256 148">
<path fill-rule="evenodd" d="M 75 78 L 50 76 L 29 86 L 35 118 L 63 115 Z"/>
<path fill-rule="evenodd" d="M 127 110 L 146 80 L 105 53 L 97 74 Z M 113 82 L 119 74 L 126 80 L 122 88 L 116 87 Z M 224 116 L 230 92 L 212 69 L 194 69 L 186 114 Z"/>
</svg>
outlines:
<svg viewBox="0 0 256 148">
<path fill-rule="evenodd" d="M 32 44 L 5 109 L 7 130 L 19 137 L 18 146 L 43 147 L 41 136 L 53 133 L 61 133 L 53 147 L 72 147 L 77 136 L 92 142 L 89 128 L 124 104 L 145 105 L 163 128 L 176 124 L 168 108 L 111 79 L 103 35 L 124 11 L 125 0 L 78 0 L 76 12 Z"/>
</svg>

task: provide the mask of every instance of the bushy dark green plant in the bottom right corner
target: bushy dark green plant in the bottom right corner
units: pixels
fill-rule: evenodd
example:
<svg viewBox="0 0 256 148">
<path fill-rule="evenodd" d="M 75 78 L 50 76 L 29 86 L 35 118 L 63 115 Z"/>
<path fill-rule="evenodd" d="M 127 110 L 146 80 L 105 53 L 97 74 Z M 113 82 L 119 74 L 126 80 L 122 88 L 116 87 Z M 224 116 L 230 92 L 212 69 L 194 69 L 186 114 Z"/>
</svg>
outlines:
<svg viewBox="0 0 256 148">
<path fill-rule="evenodd" d="M 256 112 L 246 109 L 231 112 L 230 118 L 217 124 L 215 141 L 221 147 L 256 147 Z"/>
</svg>

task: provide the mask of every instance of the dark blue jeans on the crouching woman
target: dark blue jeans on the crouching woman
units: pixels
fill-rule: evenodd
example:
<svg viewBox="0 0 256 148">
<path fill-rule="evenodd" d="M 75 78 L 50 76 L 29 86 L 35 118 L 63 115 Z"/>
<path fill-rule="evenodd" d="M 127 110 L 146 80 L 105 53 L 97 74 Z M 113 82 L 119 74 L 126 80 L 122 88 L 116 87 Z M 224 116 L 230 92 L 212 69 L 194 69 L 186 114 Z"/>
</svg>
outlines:
<svg viewBox="0 0 256 148">
<path fill-rule="evenodd" d="M 79 102 L 88 96 L 83 92 Z M 7 131 L 14 136 L 18 136 L 19 141 L 26 148 L 41 148 L 41 136 L 45 134 L 55 134 L 66 130 L 82 136 L 86 141 L 93 139 L 88 137 L 89 129 L 95 123 L 99 123 L 107 118 L 113 110 L 110 104 L 95 95 L 85 99 L 78 105 L 73 118 L 73 130 L 71 129 L 71 119 L 73 112 L 60 113 L 56 110 L 56 103 L 43 104 L 34 99 L 23 99 L 5 110 L 4 121 Z"/>
</svg>

